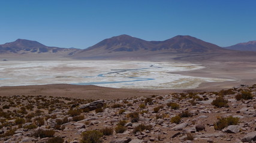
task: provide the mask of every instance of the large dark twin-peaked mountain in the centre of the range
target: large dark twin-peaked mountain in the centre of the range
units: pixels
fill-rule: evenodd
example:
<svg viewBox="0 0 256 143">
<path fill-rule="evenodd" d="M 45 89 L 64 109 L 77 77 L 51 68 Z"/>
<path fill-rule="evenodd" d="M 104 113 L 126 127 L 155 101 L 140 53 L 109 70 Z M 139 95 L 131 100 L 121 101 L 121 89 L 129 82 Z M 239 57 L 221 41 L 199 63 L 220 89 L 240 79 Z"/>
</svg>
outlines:
<svg viewBox="0 0 256 143">
<path fill-rule="evenodd" d="M 166 41 L 144 41 L 128 35 L 115 36 L 84 49 L 74 58 L 138 57 L 159 54 L 212 54 L 231 52 L 191 36 L 175 36 Z"/>
</svg>

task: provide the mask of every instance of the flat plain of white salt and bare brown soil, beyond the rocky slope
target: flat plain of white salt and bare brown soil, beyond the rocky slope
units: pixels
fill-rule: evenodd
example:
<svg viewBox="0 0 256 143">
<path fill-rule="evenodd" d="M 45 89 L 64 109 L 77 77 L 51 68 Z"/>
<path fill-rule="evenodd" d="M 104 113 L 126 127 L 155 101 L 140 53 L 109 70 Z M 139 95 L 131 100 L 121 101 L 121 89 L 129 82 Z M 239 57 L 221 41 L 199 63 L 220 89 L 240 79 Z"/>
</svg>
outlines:
<svg viewBox="0 0 256 143">
<path fill-rule="evenodd" d="M 256 81 L 256 66 L 248 61 L 1 61 L 0 68 L 2 96 L 116 99 L 183 91 L 219 91 L 240 84 L 253 85 Z"/>
</svg>

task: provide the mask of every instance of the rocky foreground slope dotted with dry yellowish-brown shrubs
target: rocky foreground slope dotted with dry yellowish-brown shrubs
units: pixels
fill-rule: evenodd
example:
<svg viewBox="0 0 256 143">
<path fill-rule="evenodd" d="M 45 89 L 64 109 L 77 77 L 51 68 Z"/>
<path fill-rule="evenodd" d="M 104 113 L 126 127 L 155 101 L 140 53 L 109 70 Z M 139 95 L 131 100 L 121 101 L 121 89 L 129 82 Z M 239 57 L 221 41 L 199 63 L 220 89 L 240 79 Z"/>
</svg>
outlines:
<svg viewBox="0 0 256 143">
<path fill-rule="evenodd" d="M 1 97 L 0 142 L 255 142 L 256 85 L 122 100 Z"/>
</svg>

